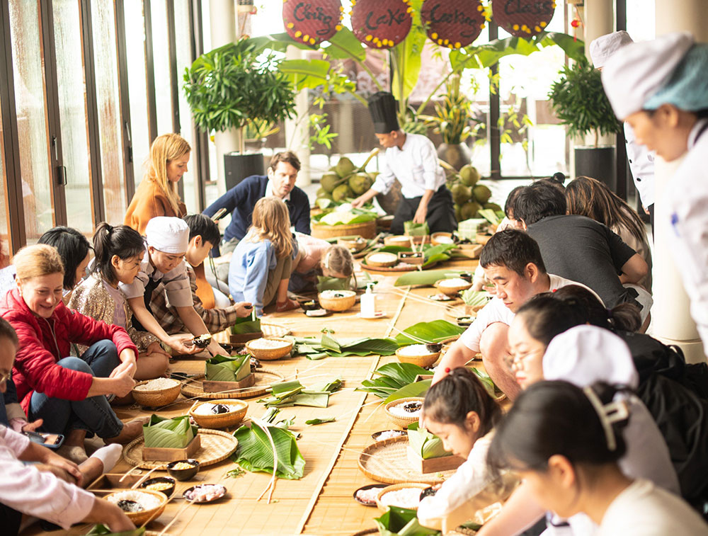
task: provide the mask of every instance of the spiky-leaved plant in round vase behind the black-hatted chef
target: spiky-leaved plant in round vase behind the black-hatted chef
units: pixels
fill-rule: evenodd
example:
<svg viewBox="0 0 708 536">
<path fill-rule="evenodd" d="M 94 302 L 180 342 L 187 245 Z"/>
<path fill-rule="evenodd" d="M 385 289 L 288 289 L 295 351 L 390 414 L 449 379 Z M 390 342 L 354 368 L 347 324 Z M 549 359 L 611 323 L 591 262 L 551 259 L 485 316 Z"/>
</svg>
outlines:
<svg viewBox="0 0 708 536">
<path fill-rule="evenodd" d="M 445 83 L 445 95 L 435 103 L 435 115 L 419 118 L 442 136 L 438 157 L 459 171 L 470 163 L 469 149 L 464 143 L 473 133 L 472 103 L 459 90 L 459 74 L 453 74 Z"/>
</svg>

